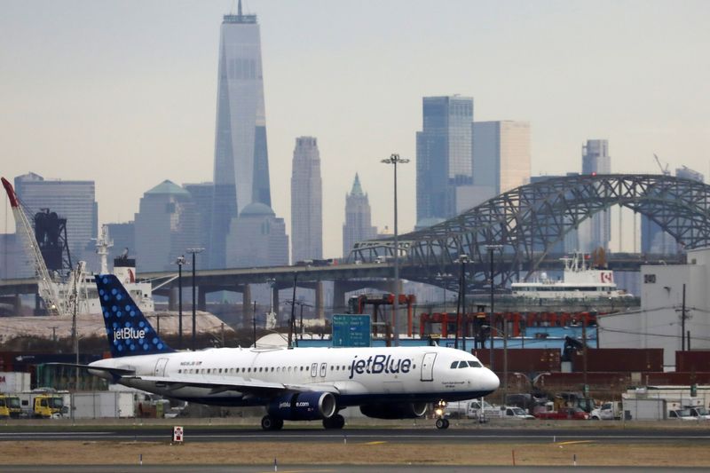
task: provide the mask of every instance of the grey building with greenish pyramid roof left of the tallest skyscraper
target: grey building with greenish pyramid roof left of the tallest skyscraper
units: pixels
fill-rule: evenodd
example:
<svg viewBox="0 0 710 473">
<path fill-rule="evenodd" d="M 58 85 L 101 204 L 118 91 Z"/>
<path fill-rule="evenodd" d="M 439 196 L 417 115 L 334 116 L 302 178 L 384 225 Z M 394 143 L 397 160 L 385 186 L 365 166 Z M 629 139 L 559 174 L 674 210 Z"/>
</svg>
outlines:
<svg viewBox="0 0 710 473">
<path fill-rule="evenodd" d="M 138 272 L 174 270 L 177 256 L 197 247 L 197 223 L 193 197 L 179 185 L 166 180 L 143 194 L 135 218 Z"/>
</svg>

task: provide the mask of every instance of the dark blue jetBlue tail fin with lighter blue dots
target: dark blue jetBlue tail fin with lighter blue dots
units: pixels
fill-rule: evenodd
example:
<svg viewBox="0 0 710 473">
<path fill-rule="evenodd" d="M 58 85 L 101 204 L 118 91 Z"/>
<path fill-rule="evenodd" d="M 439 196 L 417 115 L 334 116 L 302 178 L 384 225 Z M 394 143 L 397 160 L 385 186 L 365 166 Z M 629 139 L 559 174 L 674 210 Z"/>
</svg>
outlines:
<svg viewBox="0 0 710 473">
<path fill-rule="evenodd" d="M 174 351 L 155 333 L 118 278 L 113 274 L 97 274 L 96 287 L 114 358 Z"/>
</svg>

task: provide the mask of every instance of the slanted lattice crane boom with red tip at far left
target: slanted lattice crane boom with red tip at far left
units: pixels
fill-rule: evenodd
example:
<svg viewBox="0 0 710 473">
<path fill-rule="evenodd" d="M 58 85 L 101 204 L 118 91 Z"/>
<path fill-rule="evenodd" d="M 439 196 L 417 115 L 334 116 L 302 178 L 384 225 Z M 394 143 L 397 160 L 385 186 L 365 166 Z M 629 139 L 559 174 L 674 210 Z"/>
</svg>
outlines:
<svg viewBox="0 0 710 473">
<path fill-rule="evenodd" d="M 44 258 L 35 238 L 34 229 L 29 223 L 27 212 L 20 203 L 20 199 L 12 188 L 12 184 L 4 177 L 0 179 L 3 182 L 7 197 L 10 199 L 12 215 L 15 217 L 15 224 L 17 226 L 16 232 L 20 235 L 20 240 L 22 240 L 22 244 L 28 255 L 34 260 L 39 296 L 42 297 L 44 305 L 50 315 L 67 315 L 65 304 L 59 304 L 57 288 L 52 283 L 47 265 L 44 264 Z"/>
</svg>

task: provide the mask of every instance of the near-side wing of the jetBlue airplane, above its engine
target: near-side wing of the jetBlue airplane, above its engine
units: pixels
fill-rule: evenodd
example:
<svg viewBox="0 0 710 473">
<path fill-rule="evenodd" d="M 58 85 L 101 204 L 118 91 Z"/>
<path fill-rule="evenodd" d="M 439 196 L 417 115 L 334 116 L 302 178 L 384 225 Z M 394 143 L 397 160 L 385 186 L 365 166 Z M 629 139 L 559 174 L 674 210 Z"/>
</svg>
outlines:
<svg viewBox="0 0 710 473">
<path fill-rule="evenodd" d="M 256 379 L 245 379 L 235 377 L 227 379 L 224 377 L 209 377 L 202 376 L 199 379 L 188 376 L 143 376 L 143 375 L 124 375 L 123 379 L 131 378 L 138 381 L 155 382 L 164 384 L 170 390 L 178 390 L 180 388 L 208 388 L 210 394 L 217 394 L 226 391 L 238 391 L 245 395 L 269 395 L 278 396 L 282 392 L 306 392 L 319 391 L 331 392 L 340 394 L 340 390 L 332 384 L 313 383 L 313 384 L 288 384 L 281 382 L 264 382 Z"/>
</svg>

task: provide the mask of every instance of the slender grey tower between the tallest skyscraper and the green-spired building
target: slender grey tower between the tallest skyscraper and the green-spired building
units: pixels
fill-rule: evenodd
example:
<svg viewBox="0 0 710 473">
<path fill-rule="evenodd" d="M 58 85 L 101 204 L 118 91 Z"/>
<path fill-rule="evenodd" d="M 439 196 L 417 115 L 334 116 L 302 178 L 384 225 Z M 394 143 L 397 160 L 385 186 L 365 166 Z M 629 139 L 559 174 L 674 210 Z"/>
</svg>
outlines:
<svg viewBox="0 0 710 473">
<path fill-rule="evenodd" d="M 296 138 L 291 169 L 291 262 L 323 257 L 323 191 L 318 141 Z"/>
</svg>

